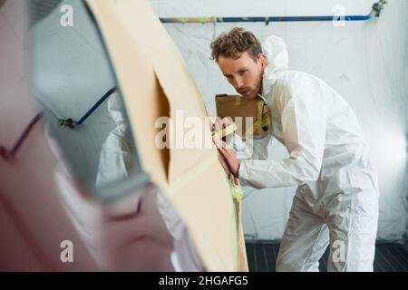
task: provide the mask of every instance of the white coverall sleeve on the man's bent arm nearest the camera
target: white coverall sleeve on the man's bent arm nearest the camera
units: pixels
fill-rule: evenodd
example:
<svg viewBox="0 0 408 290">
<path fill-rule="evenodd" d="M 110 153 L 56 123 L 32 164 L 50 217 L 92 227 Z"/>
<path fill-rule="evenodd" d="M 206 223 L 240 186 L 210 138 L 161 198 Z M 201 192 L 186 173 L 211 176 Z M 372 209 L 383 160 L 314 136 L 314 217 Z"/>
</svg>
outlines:
<svg viewBox="0 0 408 290">
<path fill-rule="evenodd" d="M 325 149 L 325 104 L 311 90 L 286 92 L 281 111 L 287 159 L 242 160 L 239 179 L 256 189 L 299 186 L 318 179 Z"/>
</svg>

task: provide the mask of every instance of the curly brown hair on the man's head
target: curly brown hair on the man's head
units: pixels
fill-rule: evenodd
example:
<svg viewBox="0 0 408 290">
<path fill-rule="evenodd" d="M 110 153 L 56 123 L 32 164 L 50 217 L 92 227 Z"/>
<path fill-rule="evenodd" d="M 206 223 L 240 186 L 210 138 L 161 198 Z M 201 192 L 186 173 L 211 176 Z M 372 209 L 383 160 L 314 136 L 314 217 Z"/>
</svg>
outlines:
<svg viewBox="0 0 408 290">
<path fill-rule="evenodd" d="M 248 52 L 250 57 L 257 61 L 257 56 L 262 53 L 261 43 L 255 34 L 244 28 L 235 27 L 227 33 L 220 34 L 211 43 L 211 59 L 219 61 L 219 56 L 238 59 L 241 53 Z"/>
</svg>

